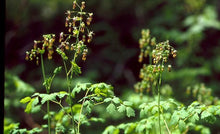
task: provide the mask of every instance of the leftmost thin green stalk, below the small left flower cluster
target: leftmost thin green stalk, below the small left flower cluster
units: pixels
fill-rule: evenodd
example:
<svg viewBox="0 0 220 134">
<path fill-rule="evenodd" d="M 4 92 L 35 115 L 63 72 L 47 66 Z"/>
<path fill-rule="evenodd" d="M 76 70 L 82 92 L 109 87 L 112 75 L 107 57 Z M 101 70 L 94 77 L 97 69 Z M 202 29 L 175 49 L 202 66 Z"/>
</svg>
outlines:
<svg viewBox="0 0 220 134">
<path fill-rule="evenodd" d="M 43 60 L 43 55 L 41 54 L 41 68 L 42 68 L 42 73 L 43 73 L 43 79 L 44 82 L 46 81 L 46 76 L 45 76 L 45 71 L 44 71 L 44 60 Z M 47 94 L 50 93 L 49 88 L 47 87 L 47 85 L 45 85 Z M 50 103 L 49 100 L 47 101 L 47 124 L 48 124 L 48 134 L 51 134 L 51 128 L 50 128 Z"/>
</svg>

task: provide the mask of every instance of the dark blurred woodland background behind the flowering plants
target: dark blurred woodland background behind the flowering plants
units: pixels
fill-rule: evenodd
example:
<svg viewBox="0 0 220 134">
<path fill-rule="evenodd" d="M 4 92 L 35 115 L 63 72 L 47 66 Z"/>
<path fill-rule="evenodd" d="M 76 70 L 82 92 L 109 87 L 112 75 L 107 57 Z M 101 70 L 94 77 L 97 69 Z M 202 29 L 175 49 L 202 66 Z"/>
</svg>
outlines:
<svg viewBox="0 0 220 134">
<path fill-rule="evenodd" d="M 28 126 L 24 117 L 41 122 L 38 115 L 23 113 L 19 104 L 22 97 L 44 91 L 40 66 L 25 61 L 25 52 L 42 34 L 65 32 L 65 11 L 71 8 L 72 0 L 6 0 L 4 100 L 8 122 L 21 122 L 21 127 Z M 95 36 L 86 62 L 79 61 L 82 75 L 75 82 L 106 82 L 115 87 L 117 96 L 126 98 L 139 81 L 138 40 L 141 30 L 148 28 L 157 41 L 168 39 L 178 50 L 171 61 L 172 72 L 163 75 L 173 97 L 187 104 L 182 93 L 200 83 L 220 97 L 220 1 L 88 0 L 86 10 L 94 13 L 91 29 Z M 45 62 L 47 73 L 62 64 L 56 59 Z M 62 77 L 55 79 L 55 91 L 65 87 Z"/>
</svg>

